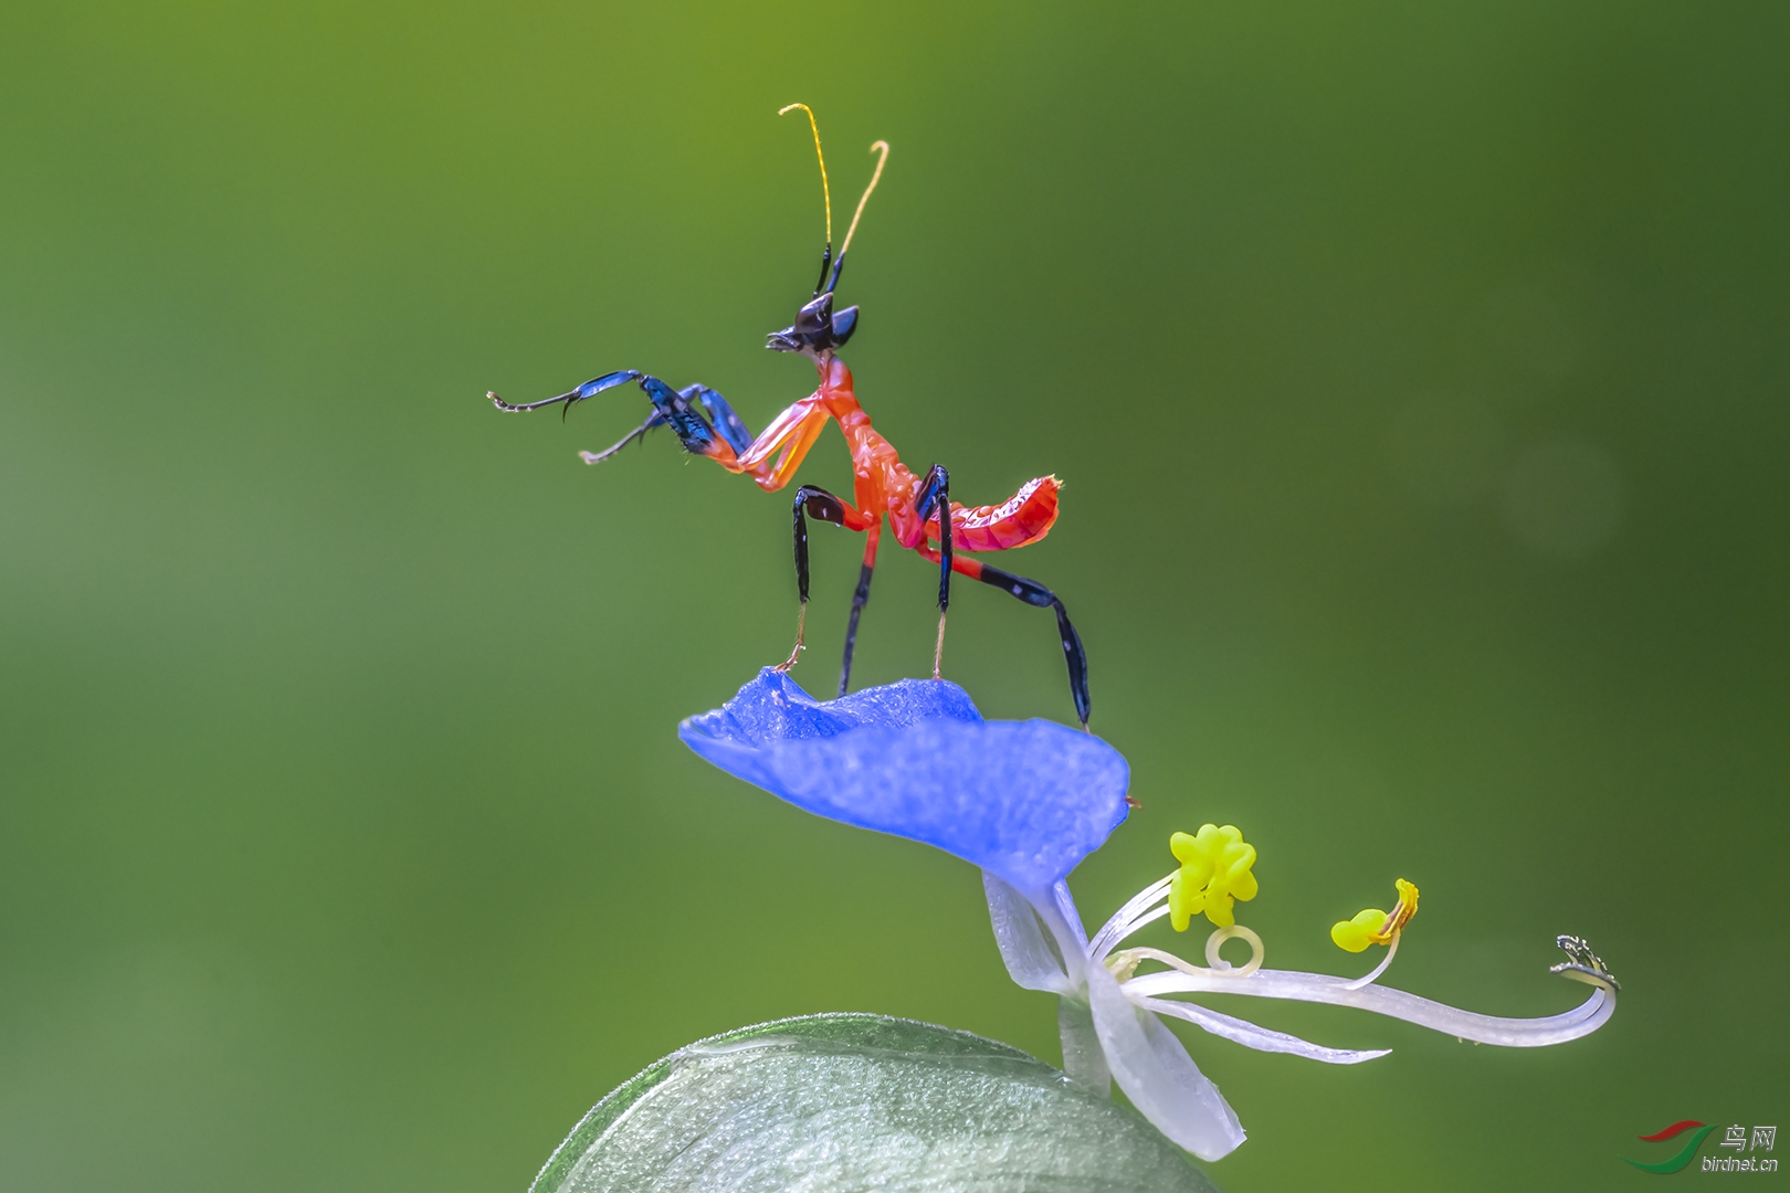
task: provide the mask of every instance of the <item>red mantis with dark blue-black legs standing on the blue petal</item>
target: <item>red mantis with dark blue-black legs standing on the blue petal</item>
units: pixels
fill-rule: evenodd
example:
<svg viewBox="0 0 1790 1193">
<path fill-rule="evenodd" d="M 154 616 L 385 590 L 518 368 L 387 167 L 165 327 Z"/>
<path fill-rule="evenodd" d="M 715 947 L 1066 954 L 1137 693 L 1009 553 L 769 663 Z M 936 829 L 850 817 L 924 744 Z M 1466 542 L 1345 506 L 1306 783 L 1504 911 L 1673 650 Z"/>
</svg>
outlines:
<svg viewBox="0 0 1790 1193">
<path fill-rule="evenodd" d="M 791 106 L 800 107 L 800 106 Z M 788 111 L 788 109 L 786 109 Z M 809 114 L 813 120 L 813 113 Z M 820 132 L 814 134 L 814 150 L 820 152 Z M 888 159 L 888 145 L 877 141 L 872 150 L 882 152 Z M 865 199 L 857 204 L 863 215 L 865 200 L 875 188 L 882 173 L 882 163 L 865 190 Z M 825 182 L 825 161 L 822 161 L 822 181 Z M 829 225 L 831 225 L 829 199 Z M 857 218 L 852 220 L 852 231 Z M 693 385 L 673 390 L 669 385 L 643 374 L 637 368 L 603 374 L 585 381 L 569 393 L 550 397 L 541 402 L 512 406 L 490 393 L 498 410 L 526 411 L 542 406 L 562 404 L 569 410 L 575 402 L 594 397 L 603 390 L 619 385 L 637 383 L 653 402 L 653 413 L 646 417 L 626 438 L 601 453 L 580 453 L 585 463 L 600 463 L 626 444 L 644 436 L 659 426 L 669 426 L 684 449 L 696 456 L 707 456 L 729 472 L 750 476 L 764 492 L 784 488 L 802 465 L 814 440 L 827 427 L 838 422 L 845 435 L 845 444 L 852 453 L 854 501 L 834 497 L 823 488 L 802 485 L 795 495 L 795 569 L 797 587 L 802 596 L 802 615 L 797 621 L 797 644 L 782 669 L 797 664 L 802 653 L 802 633 L 807 621 L 807 519 L 816 517 L 847 529 L 863 531 L 865 563 L 857 580 L 857 592 L 852 597 L 852 617 L 845 635 L 845 664 L 840 671 L 840 696 L 845 696 L 852 674 L 852 647 L 857 640 L 857 619 L 870 599 L 870 576 L 875 569 L 877 546 L 882 537 L 882 519 L 888 519 L 895 542 L 916 551 L 924 558 L 940 565 L 938 581 L 938 647 L 933 653 L 933 678 L 938 678 L 940 658 L 945 647 L 945 610 L 950 605 L 952 572 L 968 580 L 1004 588 L 1027 605 L 1049 606 L 1056 612 L 1058 635 L 1069 664 L 1069 687 L 1076 701 L 1076 714 L 1081 724 L 1088 723 L 1088 680 L 1087 653 L 1081 637 L 1069 621 L 1063 603 L 1054 592 L 1035 580 L 1013 576 L 981 560 L 965 558 L 958 551 L 1010 551 L 1038 542 L 1056 522 L 1056 494 L 1060 483 L 1054 476 L 1042 476 L 1027 481 L 1013 497 L 999 506 L 963 506 L 950 501 L 950 476 L 943 467 L 934 465 L 925 476 L 915 476 L 902 461 L 895 445 L 870 426 L 870 415 L 857 404 L 852 390 L 852 370 L 838 358 L 838 349 L 857 327 L 857 308 L 845 308 L 834 313 L 832 297 L 845 267 L 845 250 L 852 243 L 852 233 L 845 236 L 845 247 L 838 259 L 832 259 L 832 238 L 829 229 L 827 250 L 820 261 L 820 284 L 814 299 L 802 306 L 793 326 L 770 334 L 766 347 L 782 352 L 800 352 L 807 356 L 820 372 L 820 388 L 777 415 L 764 433 L 752 436 L 745 420 L 716 390 Z M 832 267 L 829 277 L 829 265 Z M 700 408 L 700 410 L 698 410 Z M 707 419 L 703 417 L 707 411 Z M 714 422 L 711 424 L 709 419 Z M 940 512 L 949 510 L 949 517 L 940 519 Z"/>
</svg>

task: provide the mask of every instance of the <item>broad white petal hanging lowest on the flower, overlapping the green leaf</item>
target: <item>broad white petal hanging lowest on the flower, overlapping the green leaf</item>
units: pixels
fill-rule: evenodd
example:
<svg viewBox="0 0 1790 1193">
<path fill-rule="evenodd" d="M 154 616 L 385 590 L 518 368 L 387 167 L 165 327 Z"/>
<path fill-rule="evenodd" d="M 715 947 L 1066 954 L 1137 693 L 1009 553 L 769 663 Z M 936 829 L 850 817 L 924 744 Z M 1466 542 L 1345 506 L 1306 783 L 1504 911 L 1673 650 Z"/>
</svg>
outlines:
<svg viewBox="0 0 1790 1193">
<path fill-rule="evenodd" d="M 1156 1130 L 1206 1161 L 1237 1150 L 1244 1141 L 1237 1113 L 1174 1032 L 1133 1005 L 1104 966 L 1088 966 L 1088 1007 L 1113 1079 Z"/>
</svg>

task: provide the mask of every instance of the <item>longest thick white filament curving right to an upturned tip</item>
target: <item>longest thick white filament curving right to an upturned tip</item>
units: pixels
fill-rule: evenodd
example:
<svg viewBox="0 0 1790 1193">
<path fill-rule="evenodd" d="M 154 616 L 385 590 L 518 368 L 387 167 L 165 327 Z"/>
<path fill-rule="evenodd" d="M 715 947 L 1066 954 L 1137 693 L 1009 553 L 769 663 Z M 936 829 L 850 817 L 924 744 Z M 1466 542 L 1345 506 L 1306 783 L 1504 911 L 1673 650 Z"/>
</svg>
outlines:
<svg viewBox="0 0 1790 1193">
<path fill-rule="evenodd" d="M 1300 973 L 1298 969 L 1257 969 L 1248 978 L 1223 975 L 1192 975 L 1171 969 L 1146 973 L 1126 982 L 1133 998 L 1160 994 L 1248 994 L 1251 998 L 1291 998 L 1294 1002 L 1321 1002 L 1334 1007 L 1357 1007 L 1393 1020 L 1405 1020 L 1448 1036 L 1504 1048 L 1541 1048 L 1563 1045 L 1568 1039 L 1590 1036 L 1616 1011 L 1616 994 L 1598 986 L 1590 998 L 1566 1011 L 1536 1020 L 1504 1020 L 1446 1003 L 1418 998 L 1385 986 L 1351 989 L 1346 978 L 1328 973 Z"/>
</svg>

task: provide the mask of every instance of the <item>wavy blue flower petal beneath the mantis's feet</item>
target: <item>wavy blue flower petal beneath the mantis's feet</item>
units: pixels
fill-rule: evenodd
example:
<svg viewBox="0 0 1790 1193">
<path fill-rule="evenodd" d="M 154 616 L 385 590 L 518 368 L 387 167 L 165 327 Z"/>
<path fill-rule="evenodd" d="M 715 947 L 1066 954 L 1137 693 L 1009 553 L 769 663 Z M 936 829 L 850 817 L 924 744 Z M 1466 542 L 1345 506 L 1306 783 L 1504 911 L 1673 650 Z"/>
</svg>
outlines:
<svg viewBox="0 0 1790 1193">
<path fill-rule="evenodd" d="M 1131 769 L 1054 721 L 983 721 L 942 680 L 816 701 L 766 667 L 678 737 L 729 774 L 859 828 L 924 841 L 1042 893 L 1126 817 Z"/>
</svg>

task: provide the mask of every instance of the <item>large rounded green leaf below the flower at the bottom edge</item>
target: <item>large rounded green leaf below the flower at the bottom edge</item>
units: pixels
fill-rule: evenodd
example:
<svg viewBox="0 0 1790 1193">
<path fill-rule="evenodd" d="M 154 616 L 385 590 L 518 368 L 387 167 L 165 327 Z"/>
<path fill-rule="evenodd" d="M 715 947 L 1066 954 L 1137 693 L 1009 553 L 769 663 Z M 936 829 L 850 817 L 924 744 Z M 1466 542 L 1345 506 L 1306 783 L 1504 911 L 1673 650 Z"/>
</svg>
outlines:
<svg viewBox="0 0 1790 1193">
<path fill-rule="evenodd" d="M 596 1104 L 532 1193 L 1212 1193 L 1133 1111 L 1017 1048 L 816 1014 L 678 1048 Z"/>
</svg>

